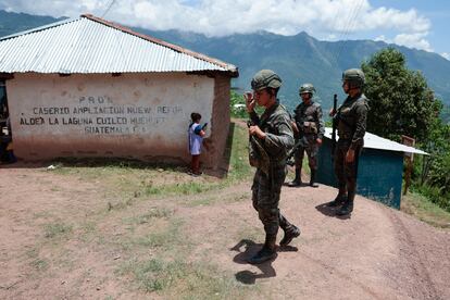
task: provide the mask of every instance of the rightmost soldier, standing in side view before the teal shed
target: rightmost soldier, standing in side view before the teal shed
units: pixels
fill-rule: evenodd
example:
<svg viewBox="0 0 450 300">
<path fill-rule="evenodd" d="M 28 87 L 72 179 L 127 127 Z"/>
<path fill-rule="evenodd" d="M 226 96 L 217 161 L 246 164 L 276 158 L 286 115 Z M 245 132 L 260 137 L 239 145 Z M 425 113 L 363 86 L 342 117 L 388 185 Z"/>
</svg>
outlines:
<svg viewBox="0 0 450 300">
<path fill-rule="evenodd" d="M 335 151 L 335 173 L 339 193 L 327 205 L 339 208 L 337 215 L 348 215 L 353 211 L 357 192 L 358 160 L 364 145 L 368 99 L 362 92 L 365 76 L 359 68 L 350 68 L 342 74 L 342 89 L 348 95 L 337 111 L 330 112 L 337 122 L 339 140 Z"/>
</svg>

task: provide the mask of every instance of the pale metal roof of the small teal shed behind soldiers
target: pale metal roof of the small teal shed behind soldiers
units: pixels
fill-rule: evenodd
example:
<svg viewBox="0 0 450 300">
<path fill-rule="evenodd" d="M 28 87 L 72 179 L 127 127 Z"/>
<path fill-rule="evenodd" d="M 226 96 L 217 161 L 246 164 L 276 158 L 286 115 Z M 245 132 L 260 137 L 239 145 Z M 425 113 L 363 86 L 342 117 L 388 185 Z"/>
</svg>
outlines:
<svg viewBox="0 0 450 300">
<path fill-rule="evenodd" d="M 329 127 L 325 128 L 326 138 L 332 139 L 332 133 L 333 133 L 332 128 Z M 409 146 L 396 142 L 390 139 L 382 138 L 371 133 L 365 133 L 364 135 L 364 148 L 428 155 L 427 152 L 415 149 L 414 147 L 409 147 Z"/>
</svg>

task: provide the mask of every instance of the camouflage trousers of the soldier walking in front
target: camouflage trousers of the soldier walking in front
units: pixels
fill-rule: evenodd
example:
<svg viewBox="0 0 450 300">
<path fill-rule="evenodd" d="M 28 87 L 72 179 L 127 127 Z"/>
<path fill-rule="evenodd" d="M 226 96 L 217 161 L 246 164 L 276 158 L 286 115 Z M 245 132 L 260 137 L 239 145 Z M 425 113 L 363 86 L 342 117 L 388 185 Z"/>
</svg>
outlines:
<svg viewBox="0 0 450 300">
<path fill-rule="evenodd" d="M 257 170 L 251 189 L 253 208 L 258 211 L 258 215 L 264 225 L 265 234 L 276 236 L 278 227 L 286 230 L 292 225 L 278 209 L 282 186 L 287 174 L 286 165 L 272 167 L 271 171 L 272 176 L 266 176 L 263 172 Z"/>
</svg>

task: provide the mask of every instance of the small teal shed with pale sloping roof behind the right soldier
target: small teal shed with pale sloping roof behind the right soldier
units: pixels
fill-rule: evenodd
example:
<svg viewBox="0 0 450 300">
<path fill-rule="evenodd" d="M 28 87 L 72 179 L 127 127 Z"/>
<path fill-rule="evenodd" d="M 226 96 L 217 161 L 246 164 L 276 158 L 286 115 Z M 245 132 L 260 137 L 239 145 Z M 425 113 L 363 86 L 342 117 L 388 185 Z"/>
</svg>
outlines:
<svg viewBox="0 0 450 300">
<path fill-rule="evenodd" d="M 428 153 L 366 133 L 358 167 L 357 193 L 400 209 L 404 153 Z M 337 187 L 332 163 L 332 128 L 318 151 L 317 182 Z"/>
</svg>

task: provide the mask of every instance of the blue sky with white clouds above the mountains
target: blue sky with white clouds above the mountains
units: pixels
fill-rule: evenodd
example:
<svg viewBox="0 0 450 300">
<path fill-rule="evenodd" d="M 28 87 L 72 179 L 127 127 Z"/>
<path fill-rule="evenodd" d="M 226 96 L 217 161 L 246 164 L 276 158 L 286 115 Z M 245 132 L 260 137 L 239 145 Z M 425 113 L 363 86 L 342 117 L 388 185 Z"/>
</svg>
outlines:
<svg viewBox="0 0 450 300">
<path fill-rule="evenodd" d="M 450 59 L 445 0 L 0 0 L 0 9 L 55 17 L 91 13 L 129 26 L 207 36 L 304 30 L 318 39 L 384 40 Z"/>
</svg>

